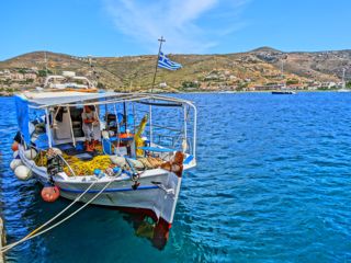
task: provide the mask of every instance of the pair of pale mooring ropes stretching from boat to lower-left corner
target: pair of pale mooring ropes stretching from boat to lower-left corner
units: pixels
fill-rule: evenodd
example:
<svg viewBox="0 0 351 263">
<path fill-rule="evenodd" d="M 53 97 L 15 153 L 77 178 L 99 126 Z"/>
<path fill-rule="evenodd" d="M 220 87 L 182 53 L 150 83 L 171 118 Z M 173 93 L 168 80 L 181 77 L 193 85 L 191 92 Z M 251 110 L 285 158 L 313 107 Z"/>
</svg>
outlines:
<svg viewBox="0 0 351 263">
<path fill-rule="evenodd" d="M 95 194 L 90 201 L 88 201 L 83 206 L 81 206 L 80 208 L 78 208 L 76 211 L 73 211 L 72 214 L 70 214 L 69 216 L 67 216 L 66 218 L 61 219 L 60 221 L 56 222 L 55 225 L 53 225 L 52 227 L 37 232 L 38 230 L 41 230 L 42 228 L 44 228 L 45 226 L 47 226 L 48 224 L 50 224 L 53 220 L 55 220 L 57 217 L 59 217 L 60 215 L 63 215 L 67 209 L 69 209 L 73 204 L 76 204 L 97 182 L 99 181 L 94 181 L 92 184 L 90 184 L 90 186 L 83 192 L 81 193 L 70 205 L 68 205 L 64 210 L 61 210 L 60 213 L 58 213 L 55 217 L 53 217 L 52 219 L 49 219 L 47 222 L 43 224 L 41 227 L 34 229 L 31 233 L 29 233 L 27 236 L 25 236 L 24 238 L 22 238 L 21 240 L 8 244 L 5 247 L 3 247 L 1 249 L 1 253 L 7 252 L 8 250 L 16 247 L 20 243 L 23 243 L 27 240 L 31 240 L 39 235 L 43 235 L 49 230 L 52 230 L 53 228 L 59 226 L 60 224 L 63 224 L 64 221 L 68 220 L 69 218 L 71 218 L 73 215 L 76 215 L 78 211 L 80 211 L 81 209 L 83 209 L 86 206 L 88 206 L 91 202 L 93 202 L 113 181 L 110 181 L 106 183 L 106 185 L 98 193 Z"/>
</svg>

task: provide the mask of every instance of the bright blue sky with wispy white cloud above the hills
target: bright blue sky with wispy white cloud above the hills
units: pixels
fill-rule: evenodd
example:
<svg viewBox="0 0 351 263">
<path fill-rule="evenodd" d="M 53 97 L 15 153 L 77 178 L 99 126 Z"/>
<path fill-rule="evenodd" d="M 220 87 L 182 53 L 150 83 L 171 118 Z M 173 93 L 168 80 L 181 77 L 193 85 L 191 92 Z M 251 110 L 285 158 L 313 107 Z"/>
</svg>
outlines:
<svg viewBox="0 0 351 263">
<path fill-rule="evenodd" d="M 351 49 L 349 0 L 2 0 L 0 60 Z"/>
</svg>

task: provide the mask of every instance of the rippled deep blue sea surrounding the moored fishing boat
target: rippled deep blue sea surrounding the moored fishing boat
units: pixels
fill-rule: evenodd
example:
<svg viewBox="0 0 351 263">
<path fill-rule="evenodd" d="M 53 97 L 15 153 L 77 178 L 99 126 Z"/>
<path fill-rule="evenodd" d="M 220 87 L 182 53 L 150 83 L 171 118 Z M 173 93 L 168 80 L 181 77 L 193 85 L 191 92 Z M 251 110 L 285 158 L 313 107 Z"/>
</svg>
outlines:
<svg viewBox="0 0 351 263">
<path fill-rule="evenodd" d="M 183 176 L 162 250 L 133 217 L 83 209 L 9 262 L 351 262 L 351 93 L 184 94 L 199 110 L 197 168 Z M 12 98 L 0 99 L 0 201 L 11 243 L 61 210 L 9 163 Z"/>
</svg>

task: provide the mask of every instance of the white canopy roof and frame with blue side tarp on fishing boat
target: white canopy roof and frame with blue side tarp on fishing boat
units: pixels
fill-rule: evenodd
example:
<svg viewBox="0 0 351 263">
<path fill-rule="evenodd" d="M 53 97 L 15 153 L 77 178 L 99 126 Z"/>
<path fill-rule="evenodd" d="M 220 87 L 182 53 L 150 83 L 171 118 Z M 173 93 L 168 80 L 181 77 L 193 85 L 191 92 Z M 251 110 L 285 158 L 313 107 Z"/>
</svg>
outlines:
<svg viewBox="0 0 351 263">
<path fill-rule="evenodd" d="M 154 137 L 158 136 L 158 138 L 169 137 L 168 135 L 155 134 L 154 130 L 167 129 L 173 130 L 173 128 L 166 127 L 162 122 L 160 124 L 155 124 L 155 117 L 152 117 L 152 107 L 179 107 L 182 108 L 183 112 L 183 140 L 184 149 L 186 145 L 192 145 L 192 156 L 195 157 L 195 141 L 196 141 L 196 107 L 192 102 L 173 98 L 167 95 L 159 95 L 152 93 L 117 93 L 117 92 L 104 92 L 104 93 L 87 93 L 87 92 L 76 92 L 76 91 L 65 91 L 65 92 L 24 92 L 22 94 L 16 95 L 16 112 L 18 112 L 18 123 L 21 133 L 23 134 L 24 140 L 30 144 L 30 130 L 29 130 L 29 110 L 44 110 L 45 111 L 45 124 L 46 124 L 46 133 L 48 137 L 48 145 L 52 147 L 52 128 L 49 126 L 49 116 L 55 107 L 80 107 L 84 105 L 113 105 L 118 103 L 132 102 L 134 104 L 140 104 L 144 106 L 148 106 L 148 110 L 141 110 L 143 112 L 148 113 L 148 125 L 149 125 L 149 138 L 150 144 L 154 142 Z M 123 105 L 125 108 L 125 104 Z M 114 105 L 115 108 L 115 105 Z M 134 108 L 134 107 L 133 107 Z M 191 135 L 188 133 L 186 122 L 189 118 L 190 108 L 193 110 L 193 130 Z M 69 110 L 68 110 L 69 111 Z M 133 110 L 134 111 L 134 110 Z M 125 113 L 124 113 L 125 114 Z M 162 119 L 162 118 L 161 118 Z M 71 122 L 71 121 L 70 121 Z M 72 124 L 70 123 L 72 127 Z M 174 130 L 173 130 L 174 132 Z M 180 130 L 176 130 L 180 132 Z M 73 132 L 71 132 L 71 140 L 76 141 L 76 137 L 73 136 Z M 156 138 L 156 137 L 155 137 Z M 188 142 L 188 138 L 191 138 L 190 142 Z"/>
</svg>

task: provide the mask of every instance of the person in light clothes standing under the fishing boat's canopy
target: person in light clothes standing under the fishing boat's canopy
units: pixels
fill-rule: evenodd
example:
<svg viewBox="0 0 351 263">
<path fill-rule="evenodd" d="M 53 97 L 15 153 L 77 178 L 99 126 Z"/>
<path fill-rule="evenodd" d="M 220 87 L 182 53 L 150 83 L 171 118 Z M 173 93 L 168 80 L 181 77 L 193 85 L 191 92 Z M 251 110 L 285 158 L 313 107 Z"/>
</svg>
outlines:
<svg viewBox="0 0 351 263">
<path fill-rule="evenodd" d="M 86 150 L 93 151 L 100 133 L 99 116 L 93 105 L 87 105 L 81 114 L 82 129 L 86 136 Z"/>
</svg>

